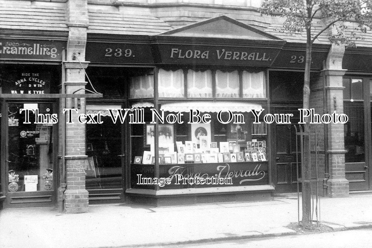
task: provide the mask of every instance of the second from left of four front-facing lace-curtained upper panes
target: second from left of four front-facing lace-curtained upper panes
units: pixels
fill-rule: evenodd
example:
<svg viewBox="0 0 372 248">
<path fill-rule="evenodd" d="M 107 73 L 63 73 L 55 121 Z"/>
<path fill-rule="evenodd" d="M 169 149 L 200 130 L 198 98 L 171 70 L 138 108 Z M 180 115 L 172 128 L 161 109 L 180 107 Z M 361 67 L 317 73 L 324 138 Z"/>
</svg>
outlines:
<svg viewBox="0 0 372 248">
<path fill-rule="evenodd" d="M 212 97 L 212 71 L 187 71 L 187 97 Z"/>
</svg>

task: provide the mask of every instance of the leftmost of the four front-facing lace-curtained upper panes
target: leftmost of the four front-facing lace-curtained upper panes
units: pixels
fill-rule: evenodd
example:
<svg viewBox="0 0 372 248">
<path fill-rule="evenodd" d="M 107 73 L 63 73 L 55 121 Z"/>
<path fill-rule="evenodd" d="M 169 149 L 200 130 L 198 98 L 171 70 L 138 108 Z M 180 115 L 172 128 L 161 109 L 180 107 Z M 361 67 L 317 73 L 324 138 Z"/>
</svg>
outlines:
<svg viewBox="0 0 372 248">
<path fill-rule="evenodd" d="M 159 97 L 185 97 L 185 82 L 182 69 L 176 71 L 159 69 L 158 83 Z"/>
</svg>

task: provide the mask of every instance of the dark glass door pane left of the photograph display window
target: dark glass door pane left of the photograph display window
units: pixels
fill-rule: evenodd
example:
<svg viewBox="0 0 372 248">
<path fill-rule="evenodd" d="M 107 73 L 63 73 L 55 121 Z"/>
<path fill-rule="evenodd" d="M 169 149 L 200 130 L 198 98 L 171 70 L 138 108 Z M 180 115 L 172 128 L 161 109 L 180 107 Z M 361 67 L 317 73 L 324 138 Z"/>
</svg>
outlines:
<svg viewBox="0 0 372 248">
<path fill-rule="evenodd" d="M 102 121 L 86 125 L 86 188 L 118 189 L 122 187 L 121 124 L 113 123 L 109 116 L 102 116 Z"/>
</svg>

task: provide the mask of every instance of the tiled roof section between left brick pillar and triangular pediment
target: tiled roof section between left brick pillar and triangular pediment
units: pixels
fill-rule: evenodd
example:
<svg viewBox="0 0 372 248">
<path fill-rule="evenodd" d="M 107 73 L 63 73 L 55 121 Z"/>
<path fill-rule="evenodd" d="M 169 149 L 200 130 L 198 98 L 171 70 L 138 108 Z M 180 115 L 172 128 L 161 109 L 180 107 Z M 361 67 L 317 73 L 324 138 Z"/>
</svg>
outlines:
<svg viewBox="0 0 372 248">
<path fill-rule="evenodd" d="M 130 7 L 89 6 L 88 33 L 120 35 L 153 35 L 171 29 L 171 26 L 144 9 Z"/>
</svg>

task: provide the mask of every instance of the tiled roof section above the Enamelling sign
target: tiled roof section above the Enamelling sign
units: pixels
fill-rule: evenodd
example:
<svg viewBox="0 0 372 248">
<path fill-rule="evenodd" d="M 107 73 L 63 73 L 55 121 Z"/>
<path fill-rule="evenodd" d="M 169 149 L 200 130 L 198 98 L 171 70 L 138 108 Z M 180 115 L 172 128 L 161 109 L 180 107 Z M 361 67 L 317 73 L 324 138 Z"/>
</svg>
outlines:
<svg viewBox="0 0 372 248">
<path fill-rule="evenodd" d="M 65 3 L 0 1 L 0 28 L 68 31 Z"/>
</svg>

